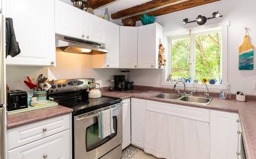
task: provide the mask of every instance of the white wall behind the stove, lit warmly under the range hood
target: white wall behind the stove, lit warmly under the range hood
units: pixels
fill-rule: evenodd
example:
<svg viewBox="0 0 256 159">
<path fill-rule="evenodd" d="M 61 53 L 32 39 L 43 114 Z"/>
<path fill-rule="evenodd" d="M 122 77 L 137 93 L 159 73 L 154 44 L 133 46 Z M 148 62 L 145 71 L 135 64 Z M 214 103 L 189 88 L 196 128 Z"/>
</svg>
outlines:
<svg viewBox="0 0 256 159">
<path fill-rule="evenodd" d="M 10 89 L 28 91 L 26 76 L 37 78 L 39 74 L 51 79 L 95 78 L 102 87 L 110 86 L 113 75 L 122 74 L 119 69 L 92 69 L 91 55 L 56 53 L 56 67 L 7 66 L 7 84 Z"/>
</svg>

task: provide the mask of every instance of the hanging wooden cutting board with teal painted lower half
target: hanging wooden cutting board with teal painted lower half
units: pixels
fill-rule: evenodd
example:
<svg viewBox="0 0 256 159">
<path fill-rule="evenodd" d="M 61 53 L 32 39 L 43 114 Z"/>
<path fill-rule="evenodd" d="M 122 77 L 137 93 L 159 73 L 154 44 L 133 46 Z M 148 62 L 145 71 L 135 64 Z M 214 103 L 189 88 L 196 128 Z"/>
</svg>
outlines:
<svg viewBox="0 0 256 159">
<path fill-rule="evenodd" d="M 249 41 L 249 35 L 245 35 L 239 47 L 239 70 L 253 70 L 253 52 L 254 46 Z"/>
</svg>

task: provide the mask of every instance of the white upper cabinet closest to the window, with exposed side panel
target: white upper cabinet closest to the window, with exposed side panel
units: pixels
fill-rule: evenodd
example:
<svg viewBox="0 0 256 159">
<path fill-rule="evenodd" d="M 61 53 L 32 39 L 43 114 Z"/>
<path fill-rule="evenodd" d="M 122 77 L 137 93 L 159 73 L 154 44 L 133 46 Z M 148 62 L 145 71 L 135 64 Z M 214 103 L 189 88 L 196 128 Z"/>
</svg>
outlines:
<svg viewBox="0 0 256 159">
<path fill-rule="evenodd" d="M 138 68 L 157 69 L 159 39 L 163 40 L 163 27 L 157 24 L 138 27 Z"/>
</svg>

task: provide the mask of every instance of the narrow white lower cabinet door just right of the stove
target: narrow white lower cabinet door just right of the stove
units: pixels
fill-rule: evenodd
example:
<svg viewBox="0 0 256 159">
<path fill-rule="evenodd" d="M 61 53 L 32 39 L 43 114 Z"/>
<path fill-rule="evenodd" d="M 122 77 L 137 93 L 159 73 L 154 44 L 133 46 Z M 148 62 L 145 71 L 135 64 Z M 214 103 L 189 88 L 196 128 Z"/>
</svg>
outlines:
<svg viewBox="0 0 256 159">
<path fill-rule="evenodd" d="M 122 150 L 131 144 L 131 99 L 123 100 Z"/>
</svg>

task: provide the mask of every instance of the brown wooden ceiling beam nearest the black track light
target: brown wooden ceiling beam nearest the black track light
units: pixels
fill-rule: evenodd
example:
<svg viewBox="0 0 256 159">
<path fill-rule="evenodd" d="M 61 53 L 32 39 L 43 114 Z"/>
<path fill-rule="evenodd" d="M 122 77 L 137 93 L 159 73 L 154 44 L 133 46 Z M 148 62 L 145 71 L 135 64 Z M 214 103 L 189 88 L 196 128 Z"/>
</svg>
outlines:
<svg viewBox="0 0 256 159">
<path fill-rule="evenodd" d="M 213 3 L 213 2 L 217 2 L 217 1 L 221 1 L 221 0 L 188 0 L 188 1 L 185 1 L 182 3 L 163 7 L 158 10 L 151 11 L 151 12 L 147 12 L 146 14 L 160 16 L 160 15 L 169 14 L 169 13 L 173 13 L 173 12 L 177 12 L 177 11 L 181 11 L 184 9 L 193 8 L 193 7 L 197 7 L 197 6 L 201 6 L 201 5 L 205 5 L 205 4 L 209 4 L 209 3 Z M 135 16 L 124 18 L 124 19 L 134 19 L 135 21 L 138 21 L 138 20 L 140 20 L 140 17 L 142 15 L 143 14 L 138 14 Z"/>
</svg>

